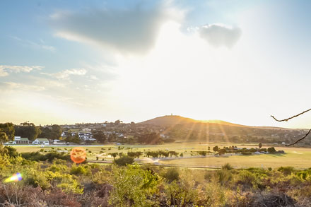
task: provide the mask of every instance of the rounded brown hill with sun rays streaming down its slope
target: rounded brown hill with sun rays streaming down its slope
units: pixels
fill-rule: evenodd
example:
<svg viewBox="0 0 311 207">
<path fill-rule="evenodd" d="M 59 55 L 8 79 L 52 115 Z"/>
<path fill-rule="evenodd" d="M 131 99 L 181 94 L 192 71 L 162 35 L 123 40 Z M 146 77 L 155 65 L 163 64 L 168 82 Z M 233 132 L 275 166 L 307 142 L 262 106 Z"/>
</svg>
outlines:
<svg viewBox="0 0 311 207">
<path fill-rule="evenodd" d="M 304 129 L 245 126 L 221 120 L 195 120 L 172 115 L 156 117 L 138 124 L 147 124 L 150 127 L 155 127 L 153 131 L 158 129 L 159 134 L 178 141 L 292 143 L 296 138 L 306 133 Z M 311 141 L 306 140 L 305 143 L 310 145 Z"/>
</svg>

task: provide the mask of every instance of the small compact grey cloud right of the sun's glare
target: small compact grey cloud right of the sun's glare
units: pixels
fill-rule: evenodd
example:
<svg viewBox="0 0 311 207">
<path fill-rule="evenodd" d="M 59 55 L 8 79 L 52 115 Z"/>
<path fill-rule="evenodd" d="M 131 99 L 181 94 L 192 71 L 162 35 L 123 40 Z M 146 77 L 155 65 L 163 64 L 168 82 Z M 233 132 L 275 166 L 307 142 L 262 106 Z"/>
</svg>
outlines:
<svg viewBox="0 0 311 207">
<path fill-rule="evenodd" d="M 231 48 L 240 39 L 242 30 L 222 24 L 204 25 L 199 28 L 201 38 L 213 47 L 225 46 Z"/>
</svg>

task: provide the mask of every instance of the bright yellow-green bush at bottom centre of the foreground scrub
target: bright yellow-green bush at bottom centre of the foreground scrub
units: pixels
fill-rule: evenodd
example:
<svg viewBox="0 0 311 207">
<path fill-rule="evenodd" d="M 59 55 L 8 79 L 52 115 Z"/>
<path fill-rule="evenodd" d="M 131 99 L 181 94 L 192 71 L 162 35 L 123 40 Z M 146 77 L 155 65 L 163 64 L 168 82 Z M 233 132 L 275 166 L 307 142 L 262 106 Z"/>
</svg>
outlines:
<svg viewBox="0 0 311 207">
<path fill-rule="evenodd" d="M 157 191 L 158 175 L 149 170 L 142 170 L 137 165 L 127 167 L 113 167 L 112 185 L 114 189 L 110 195 L 112 206 L 153 206 L 155 201 L 151 196 Z"/>
</svg>

